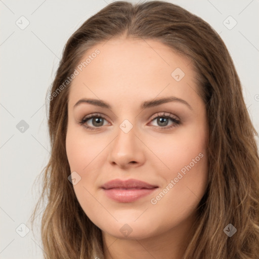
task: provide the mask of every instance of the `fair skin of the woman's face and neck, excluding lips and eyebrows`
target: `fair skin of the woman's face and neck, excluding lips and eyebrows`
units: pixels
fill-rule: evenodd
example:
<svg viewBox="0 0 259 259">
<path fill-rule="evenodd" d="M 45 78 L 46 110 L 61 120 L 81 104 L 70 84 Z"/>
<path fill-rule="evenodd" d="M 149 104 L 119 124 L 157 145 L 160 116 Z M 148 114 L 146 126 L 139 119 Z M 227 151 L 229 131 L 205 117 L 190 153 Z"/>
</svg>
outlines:
<svg viewBox="0 0 259 259">
<path fill-rule="evenodd" d="M 71 172 L 81 177 L 73 185 L 76 197 L 102 230 L 105 258 L 180 259 L 207 184 L 206 109 L 195 72 L 186 57 L 156 40 L 110 39 L 88 50 L 82 61 L 96 49 L 100 54 L 73 79 L 69 92 L 66 150 Z M 180 81 L 171 76 L 176 68 L 185 73 Z M 140 108 L 144 101 L 169 96 L 191 108 L 177 101 Z M 74 107 L 82 98 L 103 100 L 111 109 L 89 103 Z M 96 130 L 78 122 L 96 112 L 103 122 L 84 123 Z M 163 112 L 182 123 L 159 123 Z M 119 127 L 125 119 L 133 125 L 128 133 Z M 175 126 L 163 130 L 163 125 Z M 203 157 L 169 188 L 200 153 Z M 134 202 L 119 203 L 100 188 L 112 179 L 138 179 L 158 188 Z M 166 186 L 169 191 L 152 204 Z M 128 236 L 120 232 L 124 224 L 132 229 Z"/>
</svg>

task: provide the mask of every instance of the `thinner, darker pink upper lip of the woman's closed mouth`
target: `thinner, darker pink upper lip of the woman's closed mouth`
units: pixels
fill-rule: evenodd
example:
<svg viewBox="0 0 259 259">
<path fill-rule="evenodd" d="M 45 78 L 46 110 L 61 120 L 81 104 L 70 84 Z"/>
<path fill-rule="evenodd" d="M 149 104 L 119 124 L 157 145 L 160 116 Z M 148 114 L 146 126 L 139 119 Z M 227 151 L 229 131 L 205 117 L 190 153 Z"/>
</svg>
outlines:
<svg viewBox="0 0 259 259">
<path fill-rule="evenodd" d="M 114 179 L 111 180 L 104 185 L 101 186 L 103 189 L 113 189 L 113 188 L 126 188 L 126 189 L 131 189 L 131 188 L 137 188 L 137 189 L 152 189 L 156 188 L 158 186 L 156 185 L 151 185 L 143 181 L 139 181 L 136 179 L 128 179 L 126 181 L 120 180 L 120 179 Z"/>
</svg>

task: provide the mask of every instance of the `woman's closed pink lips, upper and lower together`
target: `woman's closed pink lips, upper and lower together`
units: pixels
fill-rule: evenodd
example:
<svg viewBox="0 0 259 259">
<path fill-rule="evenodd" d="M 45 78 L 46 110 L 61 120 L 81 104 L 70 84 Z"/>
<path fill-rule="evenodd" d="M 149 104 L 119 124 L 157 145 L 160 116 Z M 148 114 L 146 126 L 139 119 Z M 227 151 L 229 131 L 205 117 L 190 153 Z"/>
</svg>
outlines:
<svg viewBox="0 0 259 259">
<path fill-rule="evenodd" d="M 115 179 L 101 187 L 105 194 L 118 202 L 133 202 L 151 194 L 158 186 L 139 180 L 129 179 L 122 181 Z"/>
</svg>

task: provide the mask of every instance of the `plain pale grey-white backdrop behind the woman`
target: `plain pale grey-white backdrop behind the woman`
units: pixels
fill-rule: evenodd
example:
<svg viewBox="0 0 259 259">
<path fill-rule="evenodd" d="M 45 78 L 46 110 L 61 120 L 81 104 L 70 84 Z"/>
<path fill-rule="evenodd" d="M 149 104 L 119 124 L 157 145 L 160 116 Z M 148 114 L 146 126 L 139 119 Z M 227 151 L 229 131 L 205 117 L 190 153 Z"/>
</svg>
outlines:
<svg viewBox="0 0 259 259">
<path fill-rule="evenodd" d="M 39 229 L 38 236 L 33 236 L 28 219 L 39 194 L 34 180 L 50 157 L 46 93 L 69 36 L 111 2 L 0 1 L 0 258 L 43 258 Z M 167 2 L 200 16 L 220 33 L 234 60 L 247 109 L 258 131 L 259 1 Z"/>
</svg>

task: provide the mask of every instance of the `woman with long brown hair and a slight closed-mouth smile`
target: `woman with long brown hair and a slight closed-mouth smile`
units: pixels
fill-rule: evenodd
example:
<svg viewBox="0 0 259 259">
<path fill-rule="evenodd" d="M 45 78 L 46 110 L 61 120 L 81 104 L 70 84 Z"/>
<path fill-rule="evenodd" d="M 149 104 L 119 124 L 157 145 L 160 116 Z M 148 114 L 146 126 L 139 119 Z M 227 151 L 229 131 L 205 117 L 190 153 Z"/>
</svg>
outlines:
<svg viewBox="0 0 259 259">
<path fill-rule="evenodd" d="M 46 258 L 258 258 L 256 131 L 206 22 L 110 4 L 69 38 L 48 100 Z"/>
</svg>

